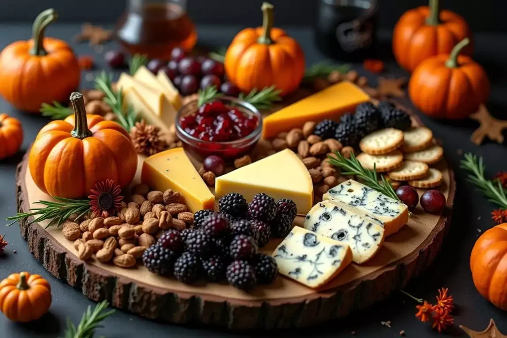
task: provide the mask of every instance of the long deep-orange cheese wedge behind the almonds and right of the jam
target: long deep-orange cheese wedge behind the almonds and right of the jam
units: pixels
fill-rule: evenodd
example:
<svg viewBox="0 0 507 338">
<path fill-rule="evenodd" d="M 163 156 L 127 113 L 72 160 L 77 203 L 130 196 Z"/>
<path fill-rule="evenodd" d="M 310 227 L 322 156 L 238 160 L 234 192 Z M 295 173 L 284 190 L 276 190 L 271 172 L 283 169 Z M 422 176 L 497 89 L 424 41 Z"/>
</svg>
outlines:
<svg viewBox="0 0 507 338">
<path fill-rule="evenodd" d="M 301 128 L 307 121 L 336 120 L 369 99 L 368 94 L 351 82 L 339 82 L 264 118 L 262 136 L 274 137 L 280 132 Z"/>
</svg>

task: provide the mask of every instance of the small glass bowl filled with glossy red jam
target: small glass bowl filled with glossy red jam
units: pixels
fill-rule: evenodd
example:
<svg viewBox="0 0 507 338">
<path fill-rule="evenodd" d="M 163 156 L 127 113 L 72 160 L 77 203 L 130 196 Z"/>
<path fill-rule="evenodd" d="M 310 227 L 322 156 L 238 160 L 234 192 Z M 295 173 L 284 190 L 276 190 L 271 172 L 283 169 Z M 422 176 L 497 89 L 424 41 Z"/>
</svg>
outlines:
<svg viewBox="0 0 507 338">
<path fill-rule="evenodd" d="M 200 107 L 197 103 L 187 103 L 176 115 L 176 134 L 197 159 L 216 155 L 230 163 L 249 153 L 261 138 L 262 116 L 250 103 L 231 96 Z"/>
</svg>

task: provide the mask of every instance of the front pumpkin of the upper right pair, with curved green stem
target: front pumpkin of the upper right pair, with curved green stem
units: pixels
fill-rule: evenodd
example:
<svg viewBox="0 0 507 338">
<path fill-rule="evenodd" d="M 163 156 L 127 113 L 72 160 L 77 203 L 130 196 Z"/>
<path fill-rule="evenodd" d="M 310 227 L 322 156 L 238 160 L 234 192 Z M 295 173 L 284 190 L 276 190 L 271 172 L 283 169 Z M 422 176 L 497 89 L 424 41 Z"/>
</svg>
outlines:
<svg viewBox="0 0 507 338">
<path fill-rule="evenodd" d="M 424 114 L 440 119 L 463 119 L 479 109 L 489 95 L 489 80 L 477 62 L 458 55 L 468 44 L 458 43 L 450 55 L 423 61 L 412 73 L 409 95 Z"/>
</svg>

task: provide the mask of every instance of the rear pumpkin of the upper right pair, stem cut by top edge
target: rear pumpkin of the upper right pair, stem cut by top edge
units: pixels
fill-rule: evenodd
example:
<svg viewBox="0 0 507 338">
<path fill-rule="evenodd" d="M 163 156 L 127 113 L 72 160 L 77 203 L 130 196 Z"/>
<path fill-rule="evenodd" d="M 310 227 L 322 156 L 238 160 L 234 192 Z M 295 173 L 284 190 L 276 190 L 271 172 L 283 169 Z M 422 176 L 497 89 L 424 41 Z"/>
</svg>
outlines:
<svg viewBox="0 0 507 338">
<path fill-rule="evenodd" d="M 429 0 L 405 12 L 392 32 L 392 51 L 400 66 L 413 71 L 431 56 L 448 54 L 465 37 L 472 39 L 466 21 L 451 11 L 439 11 L 439 0 Z M 472 55 L 472 45 L 463 53 Z"/>
</svg>

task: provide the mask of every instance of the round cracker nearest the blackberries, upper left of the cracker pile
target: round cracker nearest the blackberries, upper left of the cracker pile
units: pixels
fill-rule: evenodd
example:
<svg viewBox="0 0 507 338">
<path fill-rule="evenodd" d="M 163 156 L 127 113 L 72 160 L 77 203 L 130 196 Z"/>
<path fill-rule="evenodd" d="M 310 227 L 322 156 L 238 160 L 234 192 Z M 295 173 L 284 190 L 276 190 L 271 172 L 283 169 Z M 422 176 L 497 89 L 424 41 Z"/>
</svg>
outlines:
<svg viewBox="0 0 507 338">
<path fill-rule="evenodd" d="M 359 142 L 361 151 L 370 155 L 382 155 L 392 152 L 403 144 L 403 131 L 385 128 L 366 135 Z"/>
</svg>

